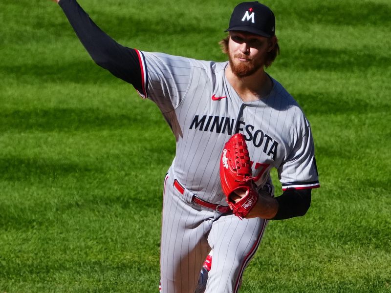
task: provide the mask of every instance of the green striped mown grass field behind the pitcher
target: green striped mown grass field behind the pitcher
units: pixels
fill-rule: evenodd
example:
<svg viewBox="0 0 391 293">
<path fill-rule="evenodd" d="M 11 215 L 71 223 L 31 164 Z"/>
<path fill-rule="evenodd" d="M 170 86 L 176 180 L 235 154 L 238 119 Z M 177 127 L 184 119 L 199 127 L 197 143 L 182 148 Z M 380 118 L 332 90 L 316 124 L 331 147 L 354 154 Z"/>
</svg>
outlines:
<svg viewBox="0 0 391 293">
<path fill-rule="evenodd" d="M 238 2 L 80 3 L 124 45 L 223 61 Z M 281 46 L 268 72 L 311 122 L 322 188 L 303 218 L 269 224 L 240 292 L 391 292 L 391 2 L 264 3 Z M 157 292 L 174 148 L 60 7 L 1 0 L 0 293 Z"/>
</svg>

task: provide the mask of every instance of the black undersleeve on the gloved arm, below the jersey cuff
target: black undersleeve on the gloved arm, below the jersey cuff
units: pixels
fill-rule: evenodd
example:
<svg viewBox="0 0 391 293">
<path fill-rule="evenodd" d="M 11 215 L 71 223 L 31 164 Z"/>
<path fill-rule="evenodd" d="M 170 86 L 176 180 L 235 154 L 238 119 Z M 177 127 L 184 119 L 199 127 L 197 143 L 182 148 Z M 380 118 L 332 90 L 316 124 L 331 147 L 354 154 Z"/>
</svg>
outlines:
<svg viewBox="0 0 391 293">
<path fill-rule="evenodd" d="M 276 200 L 279 208 L 273 220 L 304 216 L 311 205 L 311 189 L 287 189 Z"/>
</svg>

